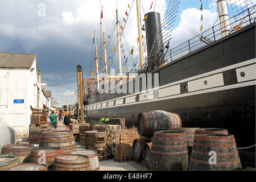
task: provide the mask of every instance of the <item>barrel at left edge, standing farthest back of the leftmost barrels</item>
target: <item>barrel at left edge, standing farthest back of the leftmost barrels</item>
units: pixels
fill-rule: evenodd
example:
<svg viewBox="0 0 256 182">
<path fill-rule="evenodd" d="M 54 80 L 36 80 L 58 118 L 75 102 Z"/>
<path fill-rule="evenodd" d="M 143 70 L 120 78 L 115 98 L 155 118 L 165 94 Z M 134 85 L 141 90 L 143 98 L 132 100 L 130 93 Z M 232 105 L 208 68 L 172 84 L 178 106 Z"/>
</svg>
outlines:
<svg viewBox="0 0 256 182">
<path fill-rule="evenodd" d="M 18 164 L 27 163 L 30 160 L 30 152 L 34 148 L 34 144 L 6 144 L 2 148 L 1 154 L 16 156 Z"/>
</svg>

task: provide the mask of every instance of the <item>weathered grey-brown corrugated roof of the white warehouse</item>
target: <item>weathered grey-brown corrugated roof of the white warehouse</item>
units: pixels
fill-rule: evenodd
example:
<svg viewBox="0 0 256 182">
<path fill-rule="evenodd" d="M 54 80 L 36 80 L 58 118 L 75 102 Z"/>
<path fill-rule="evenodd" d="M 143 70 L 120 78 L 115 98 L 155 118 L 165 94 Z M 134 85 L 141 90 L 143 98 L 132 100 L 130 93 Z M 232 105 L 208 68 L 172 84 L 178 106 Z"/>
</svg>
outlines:
<svg viewBox="0 0 256 182">
<path fill-rule="evenodd" d="M 0 68 L 31 68 L 36 54 L 0 52 Z"/>
</svg>

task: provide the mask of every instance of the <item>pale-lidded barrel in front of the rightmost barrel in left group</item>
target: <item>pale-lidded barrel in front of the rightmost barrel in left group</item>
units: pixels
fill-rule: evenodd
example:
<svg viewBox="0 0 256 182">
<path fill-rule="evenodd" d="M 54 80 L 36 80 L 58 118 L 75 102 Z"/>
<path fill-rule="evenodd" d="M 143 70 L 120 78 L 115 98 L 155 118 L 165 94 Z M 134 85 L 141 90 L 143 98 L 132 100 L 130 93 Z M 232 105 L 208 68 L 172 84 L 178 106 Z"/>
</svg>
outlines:
<svg viewBox="0 0 256 182">
<path fill-rule="evenodd" d="M 56 171 L 90 171 L 89 157 L 80 154 L 58 155 L 52 165 Z"/>
</svg>

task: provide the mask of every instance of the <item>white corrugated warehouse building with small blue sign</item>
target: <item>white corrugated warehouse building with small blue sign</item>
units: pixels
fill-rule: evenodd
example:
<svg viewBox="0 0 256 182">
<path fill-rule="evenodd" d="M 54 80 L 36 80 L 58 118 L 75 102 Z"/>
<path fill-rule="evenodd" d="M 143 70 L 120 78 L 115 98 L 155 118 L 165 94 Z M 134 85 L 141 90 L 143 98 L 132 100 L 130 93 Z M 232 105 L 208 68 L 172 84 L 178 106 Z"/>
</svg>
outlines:
<svg viewBox="0 0 256 182">
<path fill-rule="evenodd" d="M 32 111 L 51 107 L 42 89 L 35 54 L 0 53 L 0 121 L 26 135 Z"/>
</svg>

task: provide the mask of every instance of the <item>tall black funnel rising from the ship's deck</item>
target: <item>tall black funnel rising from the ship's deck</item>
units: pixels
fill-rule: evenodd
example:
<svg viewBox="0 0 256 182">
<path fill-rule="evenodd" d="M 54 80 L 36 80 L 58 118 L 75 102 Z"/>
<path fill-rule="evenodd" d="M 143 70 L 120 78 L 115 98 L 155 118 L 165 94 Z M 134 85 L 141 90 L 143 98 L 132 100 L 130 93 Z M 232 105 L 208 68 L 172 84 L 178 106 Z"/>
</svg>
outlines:
<svg viewBox="0 0 256 182">
<path fill-rule="evenodd" d="M 147 13 L 144 15 L 144 20 L 147 39 L 147 57 L 151 61 L 155 58 L 156 52 L 160 52 L 161 46 L 163 46 L 160 14 L 157 12 Z"/>
</svg>

